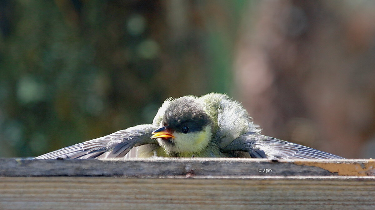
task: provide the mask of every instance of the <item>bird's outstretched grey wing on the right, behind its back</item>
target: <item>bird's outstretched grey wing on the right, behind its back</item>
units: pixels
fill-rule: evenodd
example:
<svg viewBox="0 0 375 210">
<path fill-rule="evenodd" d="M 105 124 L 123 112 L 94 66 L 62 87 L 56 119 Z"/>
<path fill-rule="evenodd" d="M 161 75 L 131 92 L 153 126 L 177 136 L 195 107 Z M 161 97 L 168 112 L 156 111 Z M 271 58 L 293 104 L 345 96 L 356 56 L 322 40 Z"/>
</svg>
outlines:
<svg viewBox="0 0 375 210">
<path fill-rule="evenodd" d="M 345 159 L 334 154 L 253 132 L 239 136 L 222 150 L 246 151 L 251 157 L 268 159 Z"/>
</svg>

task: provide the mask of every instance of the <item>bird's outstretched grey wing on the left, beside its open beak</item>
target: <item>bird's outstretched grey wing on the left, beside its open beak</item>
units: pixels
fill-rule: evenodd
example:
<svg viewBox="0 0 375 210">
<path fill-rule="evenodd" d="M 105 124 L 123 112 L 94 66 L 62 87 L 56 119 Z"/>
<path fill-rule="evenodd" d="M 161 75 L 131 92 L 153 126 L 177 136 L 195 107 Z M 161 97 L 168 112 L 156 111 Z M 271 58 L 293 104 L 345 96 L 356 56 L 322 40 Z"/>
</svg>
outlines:
<svg viewBox="0 0 375 210">
<path fill-rule="evenodd" d="M 105 154 L 105 157 L 124 157 L 133 147 L 157 144 L 150 139 L 156 125 L 137 125 L 90 141 L 75 144 L 60 150 L 35 157 L 36 159 L 90 159 Z"/>
</svg>

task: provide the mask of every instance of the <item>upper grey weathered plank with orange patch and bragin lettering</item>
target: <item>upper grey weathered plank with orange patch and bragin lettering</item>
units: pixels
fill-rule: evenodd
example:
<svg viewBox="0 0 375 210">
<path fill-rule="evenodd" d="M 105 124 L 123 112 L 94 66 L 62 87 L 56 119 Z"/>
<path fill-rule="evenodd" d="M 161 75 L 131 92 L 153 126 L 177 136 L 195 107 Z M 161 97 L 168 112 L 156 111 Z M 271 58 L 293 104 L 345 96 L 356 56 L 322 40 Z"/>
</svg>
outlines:
<svg viewBox="0 0 375 210">
<path fill-rule="evenodd" d="M 268 169 L 268 170 L 267 170 Z M 373 176 L 374 160 L 0 159 L 0 176 Z"/>
</svg>

